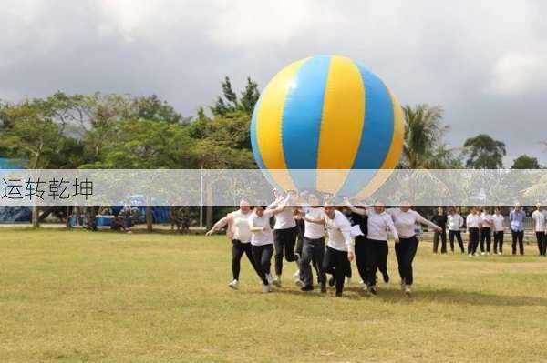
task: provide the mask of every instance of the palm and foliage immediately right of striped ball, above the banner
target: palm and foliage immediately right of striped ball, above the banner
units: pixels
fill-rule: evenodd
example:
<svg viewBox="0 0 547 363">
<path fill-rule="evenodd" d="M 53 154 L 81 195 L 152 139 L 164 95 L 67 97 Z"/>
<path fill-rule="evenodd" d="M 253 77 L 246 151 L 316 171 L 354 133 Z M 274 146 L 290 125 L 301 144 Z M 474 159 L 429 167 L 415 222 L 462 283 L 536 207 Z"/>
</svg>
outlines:
<svg viewBox="0 0 547 363">
<path fill-rule="evenodd" d="M 461 166 L 459 156 L 443 141 L 449 126 L 442 124 L 440 106 L 404 106 L 405 144 L 399 167 L 455 168 Z"/>
</svg>

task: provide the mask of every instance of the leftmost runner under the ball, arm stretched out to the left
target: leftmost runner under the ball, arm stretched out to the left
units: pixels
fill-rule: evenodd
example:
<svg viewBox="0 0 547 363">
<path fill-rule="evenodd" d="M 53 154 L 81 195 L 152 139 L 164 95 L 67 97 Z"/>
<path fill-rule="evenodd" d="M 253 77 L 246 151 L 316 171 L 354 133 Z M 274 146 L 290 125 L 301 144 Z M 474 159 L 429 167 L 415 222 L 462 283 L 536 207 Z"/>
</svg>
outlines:
<svg viewBox="0 0 547 363">
<path fill-rule="evenodd" d="M 243 254 L 247 256 L 254 270 L 258 272 L 254 264 L 253 253 L 251 251 L 251 230 L 249 229 L 249 217 L 253 211 L 249 203 L 242 199 L 238 210 L 229 213 L 223 217 L 205 234 L 211 236 L 213 233 L 226 228 L 226 236 L 232 240 L 232 276 L 233 280 L 228 287 L 237 290 L 239 287 L 239 277 L 241 271 L 241 261 Z"/>
</svg>

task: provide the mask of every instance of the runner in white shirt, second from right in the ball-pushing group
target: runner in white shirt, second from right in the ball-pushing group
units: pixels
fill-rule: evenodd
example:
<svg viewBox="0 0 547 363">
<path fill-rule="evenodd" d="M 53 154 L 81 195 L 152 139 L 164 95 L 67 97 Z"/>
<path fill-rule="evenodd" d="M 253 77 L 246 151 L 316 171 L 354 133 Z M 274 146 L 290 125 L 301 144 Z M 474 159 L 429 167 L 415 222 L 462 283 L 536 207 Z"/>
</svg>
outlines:
<svg viewBox="0 0 547 363">
<path fill-rule="evenodd" d="M 351 205 L 346 199 L 346 206 L 352 212 L 366 215 L 366 291 L 377 295 L 377 270 L 382 273 L 384 282 L 389 282 L 389 274 L 387 273 L 387 255 L 389 247 L 387 247 L 387 231 L 391 231 L 395 242 L 398 243 L 397 228 L 393 224 L 393 219 L 385 211 L 382 203 L 377 202 L 374 208 L 358 209 Z M 366 207 L 366 206 L 365 206 Z"/>
</svg>

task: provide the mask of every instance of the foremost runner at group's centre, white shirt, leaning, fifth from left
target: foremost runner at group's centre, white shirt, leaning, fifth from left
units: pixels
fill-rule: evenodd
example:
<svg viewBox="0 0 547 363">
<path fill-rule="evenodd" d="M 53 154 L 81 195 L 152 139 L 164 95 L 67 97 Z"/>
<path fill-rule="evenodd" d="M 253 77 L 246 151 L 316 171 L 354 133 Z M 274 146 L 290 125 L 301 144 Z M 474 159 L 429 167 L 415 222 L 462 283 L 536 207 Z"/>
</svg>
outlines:
<svg viewBox="0 0 547 363">
<path fill-rule="evenodd" d="M 354 242 L 351 237 L 351 225 L 335 205 L 327 202 L 325 213 L 321 218 L 306 216 L 307 222 L 325 225 L 328 233 L 323 269 L 332 275 L 336 287 L 336 297 L 341 297 L 344 291 L 347 270 L 354 259 Z"/>
</svg>

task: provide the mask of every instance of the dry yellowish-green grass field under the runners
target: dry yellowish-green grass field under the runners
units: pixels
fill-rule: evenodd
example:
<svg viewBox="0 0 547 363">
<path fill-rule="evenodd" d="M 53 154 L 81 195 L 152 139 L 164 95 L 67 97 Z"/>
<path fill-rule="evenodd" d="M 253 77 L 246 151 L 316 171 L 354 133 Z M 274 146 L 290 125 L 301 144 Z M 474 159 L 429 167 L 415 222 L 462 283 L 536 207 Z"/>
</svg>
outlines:
<svg viewBox="0 0 547 363">
<path fill-rule="evenodd" d="M 433 256 L 411 298 L 260 293 L 225 237 L 0 230 L 0 362 L 547 361 L 547 259 Z M 509 248 L 508 248 L 509 247 Z M 511 249 L 507 246 L 506 253 Z M 354 267 L 354 274 L 356 268 Z M 358 278 L 355 278 L 358 280 Z"/>
</svg>

